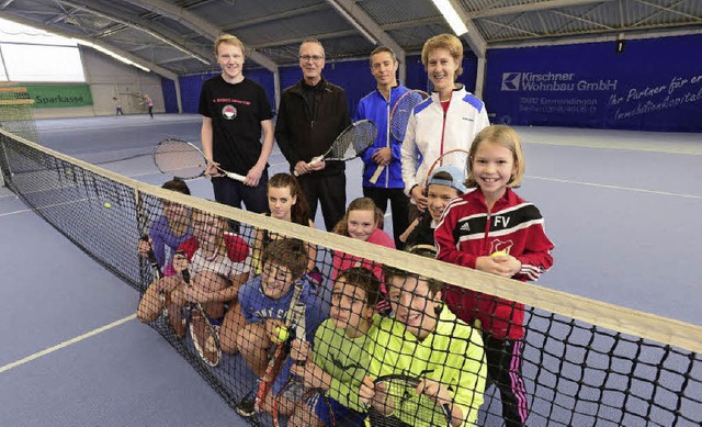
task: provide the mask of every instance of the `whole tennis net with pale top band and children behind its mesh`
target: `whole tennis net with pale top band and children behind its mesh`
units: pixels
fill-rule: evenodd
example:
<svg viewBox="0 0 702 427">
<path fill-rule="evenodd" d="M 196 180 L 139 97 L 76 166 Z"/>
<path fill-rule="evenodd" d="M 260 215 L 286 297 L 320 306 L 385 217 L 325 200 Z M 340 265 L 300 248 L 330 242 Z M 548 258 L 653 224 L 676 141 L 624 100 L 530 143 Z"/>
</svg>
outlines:
<svg viewBox="0 0 702 427">
<path fill-rule="evenodd" d="M 702 423 L 699 326 L 201 201 L 1 135 L 8 187 L 138 290 L 138 317 L 252 424 L 362 425 L 383 409 L 372 380 L 384 374 L 419 381 L 409 402 L 449 404 L 454 425 Z M 438 296 L 444 282 L 525 304 L 523 338 L 457 321 Z M 378 294 L 394 314 L 372 310 Z M 383 423 L 435 424 L 403 407 L 417 405 L 393 404 Z"/>
</svg>

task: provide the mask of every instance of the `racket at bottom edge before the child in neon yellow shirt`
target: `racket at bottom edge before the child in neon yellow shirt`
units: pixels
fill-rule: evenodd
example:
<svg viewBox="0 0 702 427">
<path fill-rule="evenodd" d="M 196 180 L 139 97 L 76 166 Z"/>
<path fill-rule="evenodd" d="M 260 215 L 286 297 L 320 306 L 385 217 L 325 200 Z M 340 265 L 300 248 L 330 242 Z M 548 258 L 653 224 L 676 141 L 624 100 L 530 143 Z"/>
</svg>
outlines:
<svg viewBox="0 0 702 427">
<path fill-rule="evenodd" d="M 401 419 L 412 419 L 419 425 L 451 427 L 450 405 L 437 405 L 430 398 L 418 395 L 417 386 L 420 382 L 421 379 L 405 374 L 378 377 L 374 381 L 376 393 L 377 390 L 384 390 L 384 404 L 388 409 L 393 409 L 393 415 L 385 416 L 372 408 L 369 411 L 371 426 L 411 426 Z"/>
</svg>

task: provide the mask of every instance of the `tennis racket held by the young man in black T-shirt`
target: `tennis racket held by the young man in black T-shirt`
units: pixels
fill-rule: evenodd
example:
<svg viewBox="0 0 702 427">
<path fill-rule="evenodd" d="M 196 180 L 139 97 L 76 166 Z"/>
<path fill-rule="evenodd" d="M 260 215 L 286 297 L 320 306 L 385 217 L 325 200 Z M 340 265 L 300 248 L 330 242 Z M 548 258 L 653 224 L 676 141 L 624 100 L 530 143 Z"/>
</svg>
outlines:
<svg viewBox="0 0 702 427">
<path fill-rule="evenodd" d="M 180 179 L 194 179 L 205 176 L 207 159 L 200 148 L 189 142 L 168 138 L 154 149 L 154 162 L 162 173 Z M 244 182 L 246 177 L 216 168 L 227 178 Z"/>
</svg>

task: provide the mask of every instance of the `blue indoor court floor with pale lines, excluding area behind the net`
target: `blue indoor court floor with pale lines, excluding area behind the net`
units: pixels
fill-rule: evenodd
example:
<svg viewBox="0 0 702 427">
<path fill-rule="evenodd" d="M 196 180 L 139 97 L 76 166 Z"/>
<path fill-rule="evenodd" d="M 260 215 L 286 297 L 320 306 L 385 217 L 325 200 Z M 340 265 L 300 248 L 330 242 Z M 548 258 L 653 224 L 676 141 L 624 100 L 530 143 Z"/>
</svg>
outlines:
<svg viewBox="0 0 702 427">
<path fill-rule="evenodd" d="M 150 154 L 197 142 L 199 115 L 46 120 L 41 143 L 160 186 Z M 702 325 L 702 135 L 517 128 L 555 243 L 541 285 Z M 278 147 L 271 175 L 286 171 Z M 360 164 L 347 168 L 350 202 Z M 189 182 L 213 199 L 206 179 Z M 317 227 L 322 227 L 317 215 Z M 387 226 L 392 225 L 386 221 Z M 93 225 L 109 248 L 111 234 Z M 392 231 L 388 229 L 392 233 Z M 0 189 L 0 426 L 246 425 L 191 366 L 134 318 L 138 293 Z M 487 425 L 499 425 L 491 424 Z"/>
</svg>

